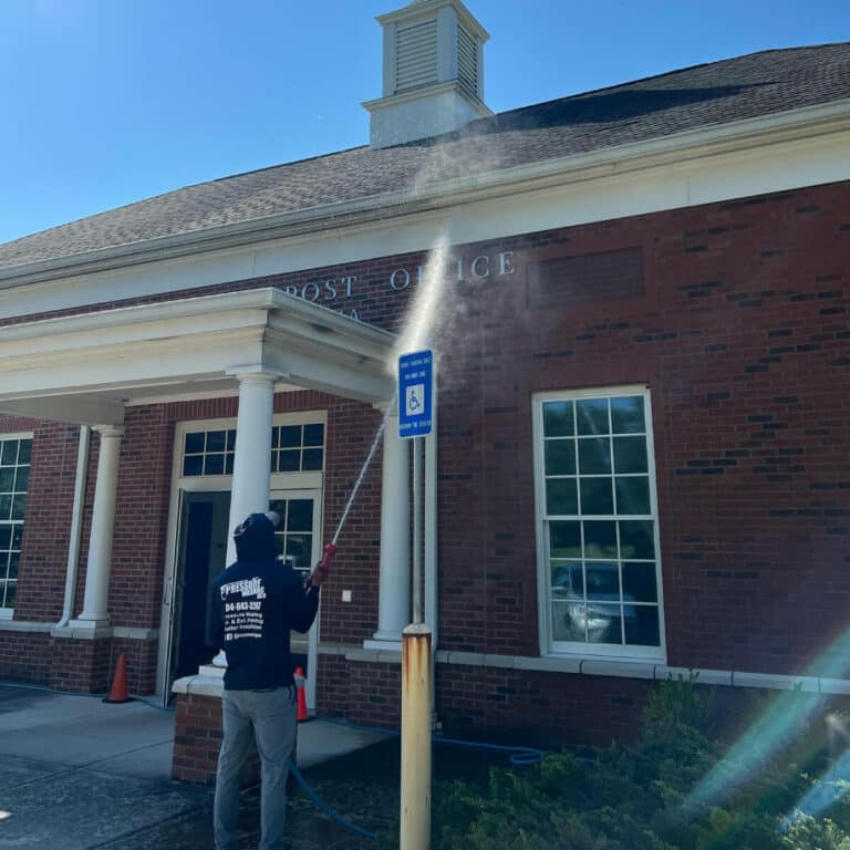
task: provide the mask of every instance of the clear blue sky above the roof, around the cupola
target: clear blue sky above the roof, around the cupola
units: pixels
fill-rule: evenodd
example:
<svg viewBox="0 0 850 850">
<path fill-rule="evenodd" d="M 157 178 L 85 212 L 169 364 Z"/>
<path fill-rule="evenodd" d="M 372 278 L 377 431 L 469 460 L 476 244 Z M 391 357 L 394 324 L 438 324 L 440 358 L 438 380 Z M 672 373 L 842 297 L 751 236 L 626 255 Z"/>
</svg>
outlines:
<svg viewBox="0 0 850 850">
<path fill-rule="evenodd" d="M 402 0 L 0 0 L 0 242 L 367 142 Z M 496 112 L 770 48 L 847 0 L 467 0 Z"/>
</svg>

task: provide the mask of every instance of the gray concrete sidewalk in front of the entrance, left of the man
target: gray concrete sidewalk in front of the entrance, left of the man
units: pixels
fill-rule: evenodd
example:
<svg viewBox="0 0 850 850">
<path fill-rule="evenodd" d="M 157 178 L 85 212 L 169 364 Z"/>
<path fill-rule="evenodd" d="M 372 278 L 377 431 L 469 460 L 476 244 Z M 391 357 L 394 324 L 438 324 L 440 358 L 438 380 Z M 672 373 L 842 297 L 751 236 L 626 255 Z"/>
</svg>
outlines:
<svg viewBox="0 0 850 850">
<path fill-rule="evenodd" d="M 0 683 L 0 850 L 211 848 L 211 789 L 170 778 L 174 718 L 141 701 Z M 298 764 L 309 768 L 383 737 L 302 724 Z"/>
</svg>

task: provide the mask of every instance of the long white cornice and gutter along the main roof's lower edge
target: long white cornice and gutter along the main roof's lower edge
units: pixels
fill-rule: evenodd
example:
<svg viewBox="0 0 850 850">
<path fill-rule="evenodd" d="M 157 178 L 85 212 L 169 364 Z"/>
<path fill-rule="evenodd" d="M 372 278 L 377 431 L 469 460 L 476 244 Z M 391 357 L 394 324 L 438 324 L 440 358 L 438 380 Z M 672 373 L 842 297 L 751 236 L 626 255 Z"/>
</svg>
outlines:
<svg viewBox="0 0 850 850">
<path fill-rule="evenodd" d="M 754 151 L 768 151 L 781 144 L 848 133 L 850 99 L 462 177 L 421 189 L 403 189 L 190 234 L 9 267 L 0 269 L 0 288 L 127 268 L 268 240 L 299 239 L 318 234 L 339 235 L 374 226 L 376 222 L 385 227 L 387 219 L 401 221 L 416 214 L 446 210 L 495 197 L 505 198 L 538 188 L 551 189 L 576 183 L 610 180 L 661 166 L 686 167 L 688 163 L 697 159 L 751 154 Z M 847 149 L 846 159 L 842 172 L 835 175 L 833 179 L 850 178 L 850 147 Z"/>
</svg>

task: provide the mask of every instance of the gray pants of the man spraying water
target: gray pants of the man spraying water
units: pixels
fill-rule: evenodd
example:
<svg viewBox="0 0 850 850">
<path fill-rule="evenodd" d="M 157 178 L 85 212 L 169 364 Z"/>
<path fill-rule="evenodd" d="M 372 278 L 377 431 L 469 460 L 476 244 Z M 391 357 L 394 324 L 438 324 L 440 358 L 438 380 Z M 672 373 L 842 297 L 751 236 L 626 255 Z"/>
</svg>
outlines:
<svg viewBox="0 0 850 850">
<path fill-rule="evenodd" d="M 296 688 L 225 691 L 221 696 L 221 750 L 216 774 L 216 850 L 239 846 L 239 790 L 242 766 L 256 739 L 260 754 L 260 846 L 283 846 L 287 774 L 296 742 Z"/>
</svg>

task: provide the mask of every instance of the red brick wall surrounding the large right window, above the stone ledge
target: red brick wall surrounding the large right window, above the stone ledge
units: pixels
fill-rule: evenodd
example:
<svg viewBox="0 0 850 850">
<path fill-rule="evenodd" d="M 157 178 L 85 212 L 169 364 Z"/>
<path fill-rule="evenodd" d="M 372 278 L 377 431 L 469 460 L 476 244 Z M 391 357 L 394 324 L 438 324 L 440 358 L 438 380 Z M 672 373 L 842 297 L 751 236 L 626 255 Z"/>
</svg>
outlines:
<svg viewBox="0 0 850 850">
<path fill-rule="evenodd" d="M 671 663 L 813 661 L 850 602 L 848 222 L 844 184 L 490 246 L 516 279 L 440 341 L 442 649 L 537 652 L 532 394 L 647 383 Z M 529 310 L 557 245 L 642 247 L 646 294 Z"/>
</svg>

